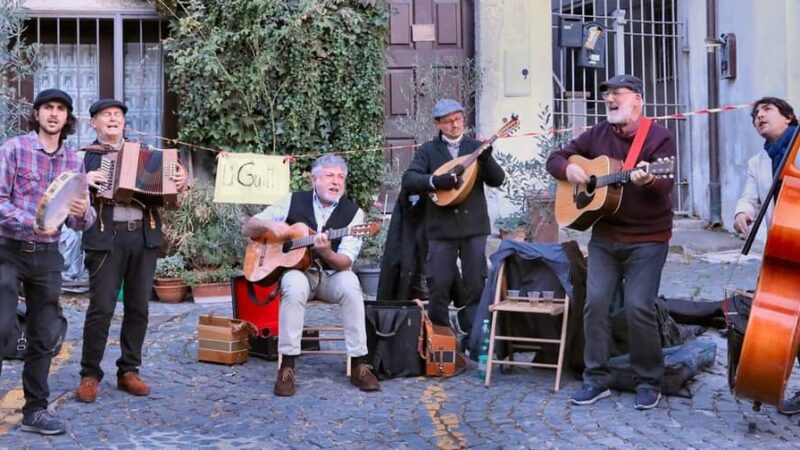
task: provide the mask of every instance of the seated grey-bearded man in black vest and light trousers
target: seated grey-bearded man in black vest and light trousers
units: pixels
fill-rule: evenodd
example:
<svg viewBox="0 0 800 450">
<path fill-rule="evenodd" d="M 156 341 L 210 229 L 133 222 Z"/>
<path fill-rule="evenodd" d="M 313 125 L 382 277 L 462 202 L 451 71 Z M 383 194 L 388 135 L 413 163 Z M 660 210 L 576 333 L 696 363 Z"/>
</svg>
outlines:
<svg viewBox="0 0 800 450">
<path fill-rule="evenodd" d="M 311 191 L 286 196 L 251 217 L 242 227 L 242 233 L 250 238 L 258 238 L 267 231 L 279 239 L 288 238 L 289 226 L 298 222 L 317 231 L 314 264 L 305 271 L 288 270 L 280 281 L 278 351 L 282 362 L 274 389 L 278 396 L 295 393 L 294 362 L 300 355 L 306 302 L 312 298 L 342 306 L 345 343 L 353 367 L 350 381 L 362 391 L 380 389 L 366 358 L 364 295 L 358 277 L 350 270 L 361 250 L 361 239 L 345 236 L 332 242 L 324 232 L 364 222 L 364 212 L 343 197 L 346 182 L 347 163 L 339 156 L 322 156 L 311 165 Z"/>
</svg>

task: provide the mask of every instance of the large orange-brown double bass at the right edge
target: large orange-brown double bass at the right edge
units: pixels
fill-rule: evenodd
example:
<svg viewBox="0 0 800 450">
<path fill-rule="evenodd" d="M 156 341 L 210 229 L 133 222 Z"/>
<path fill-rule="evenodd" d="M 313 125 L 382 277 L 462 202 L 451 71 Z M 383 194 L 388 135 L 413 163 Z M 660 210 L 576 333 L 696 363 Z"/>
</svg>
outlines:
<svg viewBox="0 0 800 450">
<path fill-rule="evenodd" d="M 800 139 L 795 131 L 781 169 L 753 222 L 747 254 L 769 203 L 777 194 L 764 259 L 745 331 L 734 393 L 779 406 L 800 345 Z"/>
</svg>

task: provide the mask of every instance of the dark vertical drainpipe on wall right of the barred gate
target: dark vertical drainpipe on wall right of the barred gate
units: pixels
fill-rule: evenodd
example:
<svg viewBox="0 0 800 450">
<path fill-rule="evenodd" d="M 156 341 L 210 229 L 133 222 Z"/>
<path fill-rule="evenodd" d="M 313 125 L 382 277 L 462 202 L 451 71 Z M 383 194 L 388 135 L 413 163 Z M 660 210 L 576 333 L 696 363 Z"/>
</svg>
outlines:
<svg viewBox="0 0 800 450">
<path fill-rule="evenodd" d="M 708 39 L 717 39 L 717 0 L 706 0 L 706 31 Z M 706 53 L 708 70 L 708 107 L 719 106 L 719 76 L 717 73 L 717 47 L 708 47 Z M 719 118 L 708 115 L 708 194 L 709 225 L 722 225 L 722 189 L 719 182 Z"/>
</svg>

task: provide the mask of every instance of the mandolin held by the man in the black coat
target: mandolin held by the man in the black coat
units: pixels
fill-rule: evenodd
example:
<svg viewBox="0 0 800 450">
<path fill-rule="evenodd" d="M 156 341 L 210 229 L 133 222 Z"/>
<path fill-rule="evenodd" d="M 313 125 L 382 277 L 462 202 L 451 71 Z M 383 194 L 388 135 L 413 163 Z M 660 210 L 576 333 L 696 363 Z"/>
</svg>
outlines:
<svg viewBox="0 0 800 450">
<path fill-rule="evenodd" d="M 472 187 L 475 186 L 475 180 L 478 178 L 478 165 L 475 164 L 475 161 L 478 160 L 478 156 L 481 156 L 481 154 L 491 147 L 494 141 L 496 141 L 498 138 L 511 136 L 518 129 L 519 118 L 516 114 L 512 114 L 511 120 L 504 123 L 497 133 L 482 143 L 480 147 L 475 149 L 475 151 L 469 155 L 459 156 L 458 158 L 451 159 L 450 161 L 447 161 L 439 166 L 439 168 L 433 172 L 434 175 L 446 174 L 453 170 L 453 168 L 456 166 L 463 167 L 464 172 L 458 176 L 458 182 L 456 183 L 455 188 L 439 189 L 428 194 L 431 200 L 439 206 L 455 206 L 463 202 L 469 193 L 472 192 Z"/>
</svg>

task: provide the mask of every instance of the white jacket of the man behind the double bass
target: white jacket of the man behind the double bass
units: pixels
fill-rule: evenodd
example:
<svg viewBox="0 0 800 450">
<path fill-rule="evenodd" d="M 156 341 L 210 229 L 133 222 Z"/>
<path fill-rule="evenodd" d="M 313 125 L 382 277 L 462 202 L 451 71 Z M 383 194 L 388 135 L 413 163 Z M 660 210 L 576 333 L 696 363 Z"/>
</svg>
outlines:
<svg viewBox="0 0 800 450">
<path fill-rule="evenodd" d="M 733 217 L 744 212 L 755 219 L 758 211 L 761 210 L 762 200 L 766 198 L 769 188 L 772 187 L 772 178 L 772 160 L 767 155 L 767 152 L 759 151 L 757 155 L 747 161 L 747 182 L 745 182 L 744 191 L 742 191 L 739 201 L 736 202 L 736 210 L 733 213 Z M 775 205 L 770 202 L 767 214 L 764 216 L 764 223 L 761 224 L 756 236 L 762 242 L 767 239 L 767 230 L 772 222 L 774 210 Z"/>
</svg>

